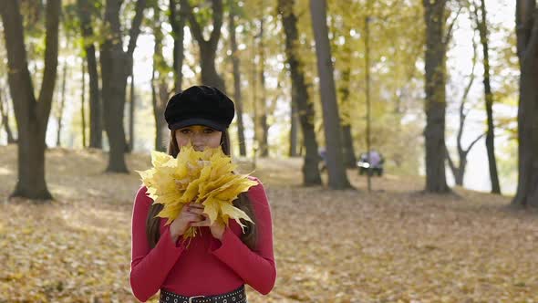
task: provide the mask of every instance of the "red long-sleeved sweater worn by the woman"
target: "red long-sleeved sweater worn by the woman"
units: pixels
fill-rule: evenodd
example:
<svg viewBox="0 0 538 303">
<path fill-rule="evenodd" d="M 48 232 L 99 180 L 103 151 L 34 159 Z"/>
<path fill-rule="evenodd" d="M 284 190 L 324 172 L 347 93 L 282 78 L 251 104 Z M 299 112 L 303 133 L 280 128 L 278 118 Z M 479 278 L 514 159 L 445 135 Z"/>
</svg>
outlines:
<svg viewBox="0 0 538 303">
<path fill-rule="evenodd" d="M 205 226 L 186 247 L 181 236 L 176 243 L 171 240 L 170 225 L 164 225 L 164 218 L 160 219 L 160 240 L 151 249 L 146 217 L 153 200 L 146 195 L 146 187 L 140 187 L 132 214 L 130 263 L 130 287 L 136 298 L 146 301 L 160 288 L 182 296 L 219 295 L 245 283 L 264 295 L 273 289 L 276 266 L 271 210 L 264 185 L 252 179 L 259 183 L 248 191 L 258 233 L 255 251 L 243 244 L 241 226 L 234 220 L 226 227 L 222 242 Z"/>
</svg>

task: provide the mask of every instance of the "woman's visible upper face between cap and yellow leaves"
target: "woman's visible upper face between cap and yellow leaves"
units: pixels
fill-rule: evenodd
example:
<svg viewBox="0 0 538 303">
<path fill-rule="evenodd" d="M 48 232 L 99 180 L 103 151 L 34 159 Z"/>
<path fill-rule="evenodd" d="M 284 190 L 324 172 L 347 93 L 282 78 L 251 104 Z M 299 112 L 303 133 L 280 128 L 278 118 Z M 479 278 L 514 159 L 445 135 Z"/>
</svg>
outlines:
<svg viewBox="0 0 538 303">
<path fill-rule="evenodd" d="M 194 151 L 203 151 L 205 148 L 216 148 L 221 145 L 222 131 L 217 131 L 209 126 L 191 125 L 175 131 L 178 147 L 191 142 Z"/>
</svg>

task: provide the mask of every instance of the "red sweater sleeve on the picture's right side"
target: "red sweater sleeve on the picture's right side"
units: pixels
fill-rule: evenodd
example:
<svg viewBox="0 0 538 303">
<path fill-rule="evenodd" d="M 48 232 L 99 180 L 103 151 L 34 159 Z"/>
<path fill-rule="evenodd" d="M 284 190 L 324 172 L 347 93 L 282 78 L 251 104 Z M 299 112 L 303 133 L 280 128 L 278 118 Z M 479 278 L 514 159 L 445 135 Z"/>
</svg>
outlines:
<svg viewBox="0 0 538 303">
<path fill-rule="evenodd" d="M 222 241 L 212 243 L 212 254 L 230 266 L 243 281 L 263 295 L 274 287 L 276 265 L 273 253 L 273 223 L 264 185 L 256 179 L 248 194 L 256 217 L 257 242 L 252 251 L 245 246 L 230 227 L 226 227 Z"/>
</svg>

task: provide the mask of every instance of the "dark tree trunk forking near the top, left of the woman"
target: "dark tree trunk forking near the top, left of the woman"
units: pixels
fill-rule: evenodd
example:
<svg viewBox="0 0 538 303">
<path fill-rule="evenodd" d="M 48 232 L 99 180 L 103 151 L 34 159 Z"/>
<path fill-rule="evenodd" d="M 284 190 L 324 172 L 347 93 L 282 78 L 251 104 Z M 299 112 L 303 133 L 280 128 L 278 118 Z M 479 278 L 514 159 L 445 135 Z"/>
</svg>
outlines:
<svg viewBox="0 0 538 303">
<path fill-rule="evenodd" d="M 105 130 L 109 137 L 109 166 L 107 172 L 129 172 L 125 163 L 126 139 L 123 112 L 126 101 L 127 78 L 132 70 L 132 53 L 140 33 L 145 0 L 136 3 L 136 15 L 129 31 L 129 46 L 123 50 L 119 23 L 121 1 L 109 0 L 106 5 L 105 25 L 110 34 L 101 45 L 100 63 L 103 83 Z"/>
</svg>

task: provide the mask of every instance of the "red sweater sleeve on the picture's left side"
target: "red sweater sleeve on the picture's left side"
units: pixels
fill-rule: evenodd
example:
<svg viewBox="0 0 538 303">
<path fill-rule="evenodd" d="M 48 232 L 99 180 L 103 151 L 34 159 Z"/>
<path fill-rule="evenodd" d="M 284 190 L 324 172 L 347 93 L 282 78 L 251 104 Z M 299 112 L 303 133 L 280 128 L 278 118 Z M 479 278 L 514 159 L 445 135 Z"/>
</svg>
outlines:
<svg viewBox="0 0 538 303">
<path fill-rule="evenodd" d="M 146 195 L 146 187 L 142 186 L 135 198 L 132 213 L 129 278 L 133 295 L 142 302 L 157 293 L 185 249 L 181 237 L 176 243 L 171 240 L 170 225 L 166 226 L 159 242 L 151 249 L 146 236 L 146 217 L 152 203 L 153 200 Z"/>
</svg>

